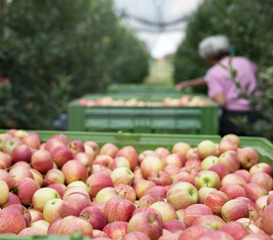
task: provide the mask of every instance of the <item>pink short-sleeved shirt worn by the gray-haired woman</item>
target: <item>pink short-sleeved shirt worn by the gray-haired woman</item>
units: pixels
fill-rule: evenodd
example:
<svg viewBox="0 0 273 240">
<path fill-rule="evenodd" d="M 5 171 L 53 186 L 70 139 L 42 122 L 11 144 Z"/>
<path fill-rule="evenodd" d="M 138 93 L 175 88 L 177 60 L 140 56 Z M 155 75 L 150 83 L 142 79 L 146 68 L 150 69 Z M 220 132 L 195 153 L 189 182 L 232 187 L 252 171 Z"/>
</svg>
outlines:
<svg viewBox="0 0 273 240">
<path fill-rule="evenodd" d="M 220 63 L 229 69 L 229 57 L 220 60 Z M 238 98 L 240 93 L 246 93 L 246 86 L 249 84 L 247 94 L 250 95 L 257 85 L 256 72 L 257 66 L 244 57 L 233 57 L 231 61 L 232 68 L 237 71 L 235 81 L 241 80 L 240 89 L 231 80 L 231 73 L 221 64 L 215 64 L 211 67 L 205 76 L 208 87 L 208 96 L 214 98 L 216 94 L 224 93 L 226 96 L 226 110 L 249 111 L 249 100 Z"/>
</svg>

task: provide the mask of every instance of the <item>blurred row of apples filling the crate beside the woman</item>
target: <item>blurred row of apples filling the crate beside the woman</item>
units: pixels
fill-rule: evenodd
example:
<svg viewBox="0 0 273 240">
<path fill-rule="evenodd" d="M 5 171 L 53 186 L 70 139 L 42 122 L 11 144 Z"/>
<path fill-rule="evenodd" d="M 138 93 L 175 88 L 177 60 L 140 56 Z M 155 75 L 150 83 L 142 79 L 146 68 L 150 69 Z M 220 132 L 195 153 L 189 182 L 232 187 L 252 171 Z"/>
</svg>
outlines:
<svg viewBox="0 0 273 240">
<path fill-rule="evenodd" d="M 78 104 L 80 106 L 93 107 L 93 106 L 113 106 L 113 107 L 206 107 L 211 103 L 209 100 L 203 99 L 200 96 L 190 97 L 183 95 L 180 98 L 166 97 L 162 102 L 151 101 L 138 101 L 136 98 L 131 98 L 127 101 L 123 99 L 113 100 L 112 97 L 102 97 L 96 100 L 80 99 Z"/>
</svg>

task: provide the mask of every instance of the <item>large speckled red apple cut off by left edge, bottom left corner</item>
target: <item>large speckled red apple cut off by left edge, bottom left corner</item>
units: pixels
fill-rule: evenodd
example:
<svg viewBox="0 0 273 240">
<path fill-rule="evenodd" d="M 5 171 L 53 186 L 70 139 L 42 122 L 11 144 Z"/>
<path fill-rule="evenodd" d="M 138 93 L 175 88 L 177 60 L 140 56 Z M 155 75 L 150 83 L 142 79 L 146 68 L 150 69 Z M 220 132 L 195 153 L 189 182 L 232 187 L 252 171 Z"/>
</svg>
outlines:
<svg viewBox="0 0 273 240">
<path fill-rule="evenodd" d="M 24 228 L 25 219 L 18 209 L 7 207 L 0 211 L 0 234 L 7 232 L 18 234 Z"/>
</svg>

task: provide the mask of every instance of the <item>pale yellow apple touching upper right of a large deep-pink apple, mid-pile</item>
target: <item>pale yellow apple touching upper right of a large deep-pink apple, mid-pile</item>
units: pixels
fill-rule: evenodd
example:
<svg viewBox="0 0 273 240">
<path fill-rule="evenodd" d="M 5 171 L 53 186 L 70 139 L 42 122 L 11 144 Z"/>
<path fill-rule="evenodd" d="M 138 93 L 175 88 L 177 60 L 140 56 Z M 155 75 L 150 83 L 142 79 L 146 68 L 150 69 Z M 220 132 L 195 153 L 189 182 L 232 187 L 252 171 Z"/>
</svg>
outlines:
<svg viewBox="0 0 273 240">
<path fill-rule="evenodd" d="M 119 167 L 112 171 L 110 178 L 114 186 L 118 184 L 129 184 L 134 179 L 134 174 L 130 168 Z"/>
</svg>

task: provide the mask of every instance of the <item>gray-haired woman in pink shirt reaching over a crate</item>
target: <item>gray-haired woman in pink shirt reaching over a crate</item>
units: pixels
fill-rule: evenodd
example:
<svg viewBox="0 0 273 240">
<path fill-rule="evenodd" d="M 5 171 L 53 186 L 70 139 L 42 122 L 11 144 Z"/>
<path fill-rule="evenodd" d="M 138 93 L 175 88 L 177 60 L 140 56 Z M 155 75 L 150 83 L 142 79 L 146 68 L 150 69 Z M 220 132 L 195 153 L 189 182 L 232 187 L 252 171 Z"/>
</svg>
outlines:
<svg viewBox="0 0 273 240">
<path fill-rule="evenodd" d="M 251 102 L 240 94 L 250 96 L 257 86 L 257 66 L 249 59 L 229 56 L 228 38 L 217 35 L 205 38 L 199 44 L 199 54 L 213 65 L 204 77 L 184 81 L 176 85 L 177 90 L 185 87 L 207 85 L 208 97 L 223 110 L 220 121 L 220 135 L 228 133 L 247 135 L 232 123 L 231 118 L 247 116 L 249 123 L 257 120 L 251 112 Z"/>
</svg>

